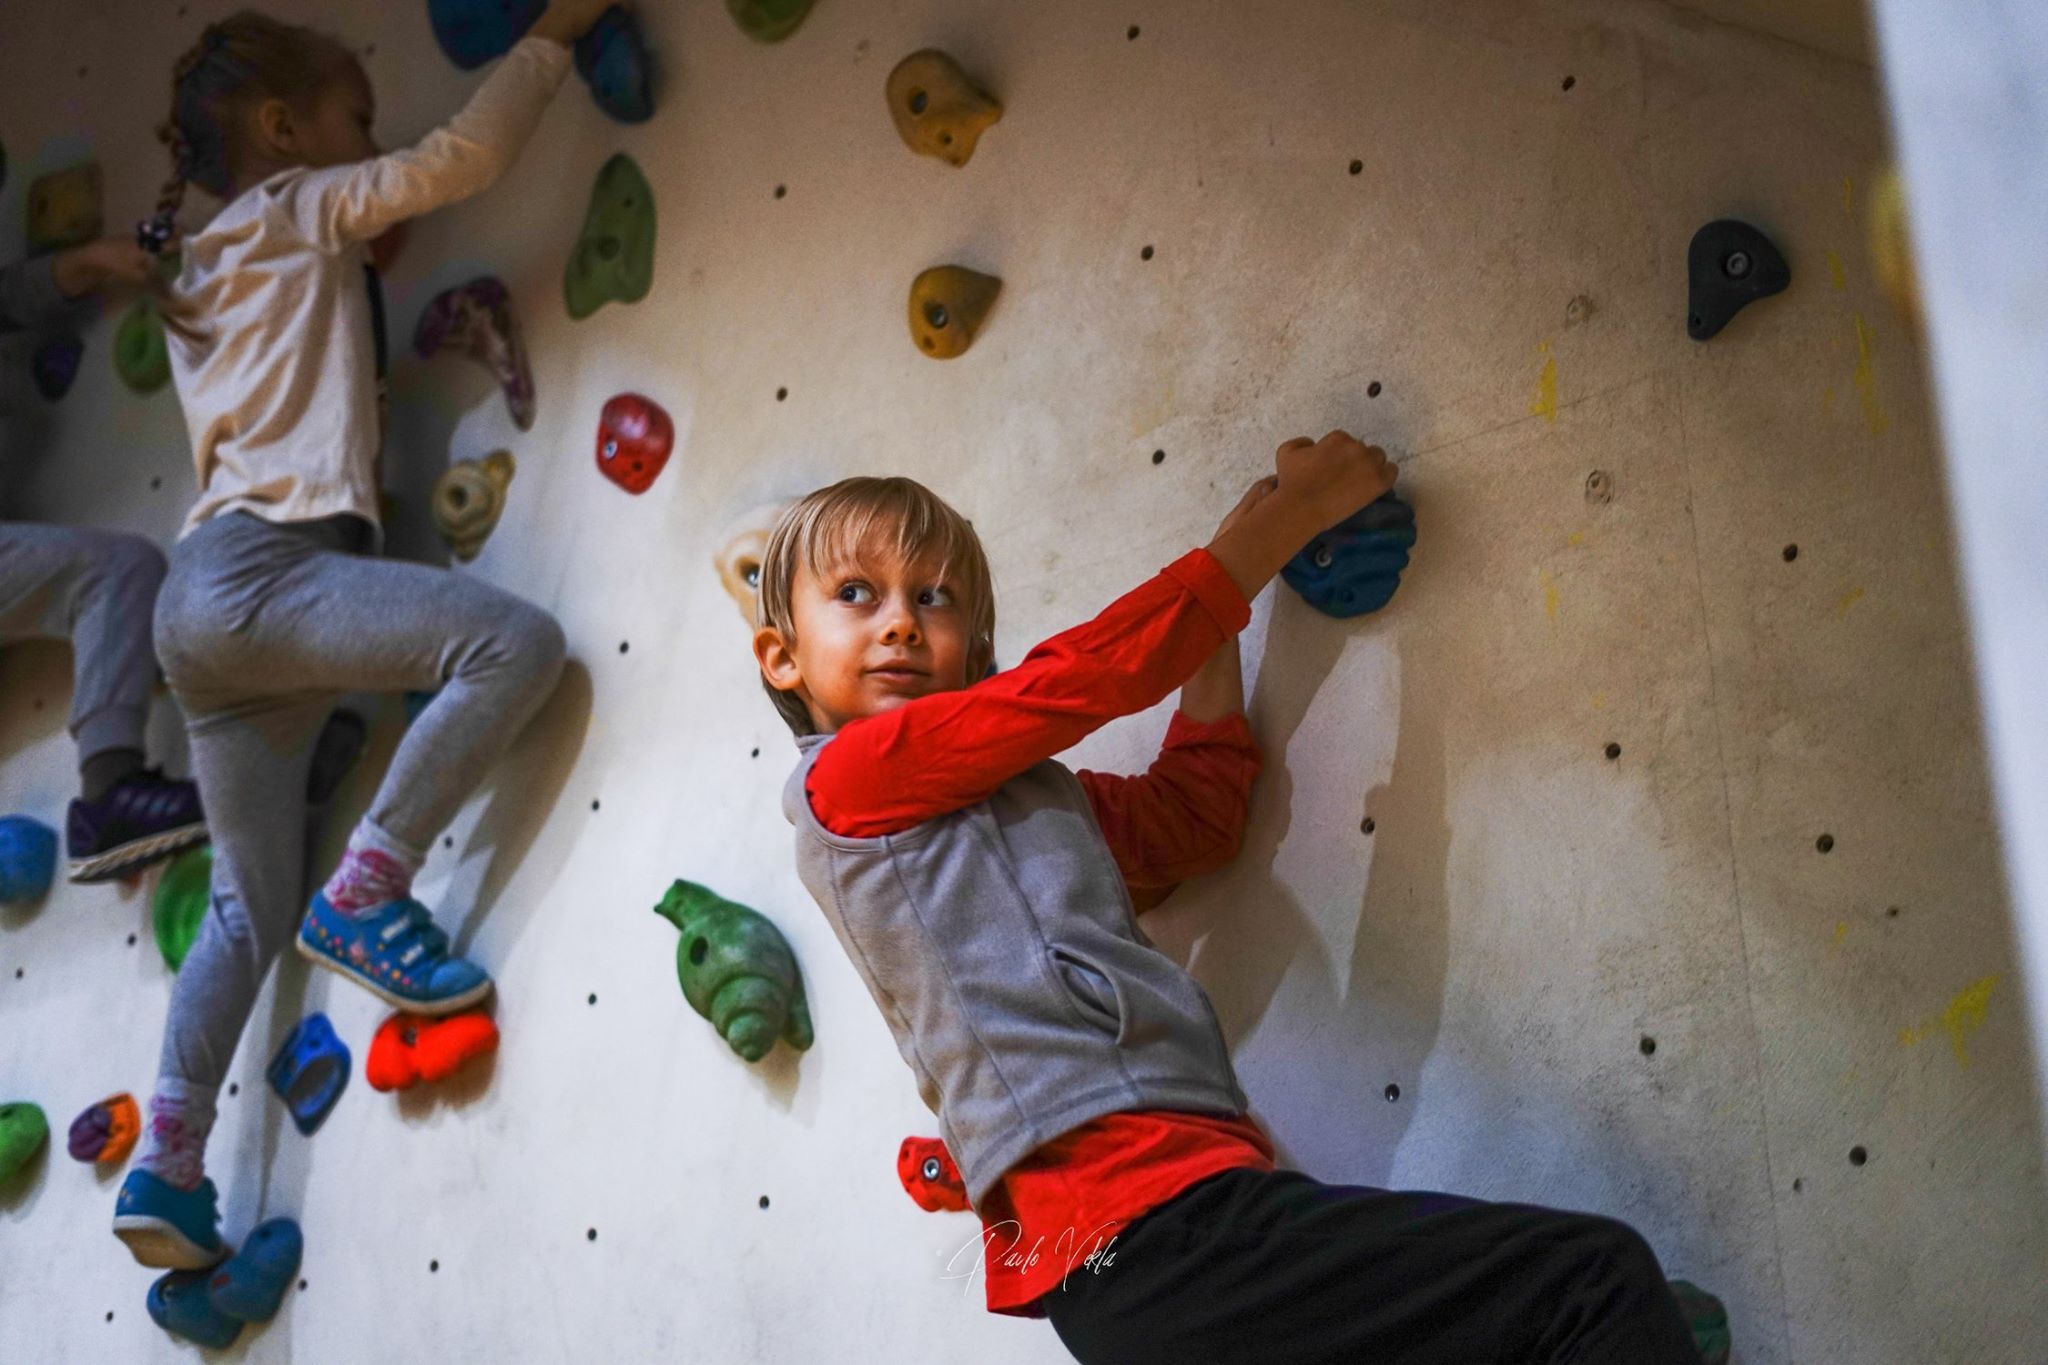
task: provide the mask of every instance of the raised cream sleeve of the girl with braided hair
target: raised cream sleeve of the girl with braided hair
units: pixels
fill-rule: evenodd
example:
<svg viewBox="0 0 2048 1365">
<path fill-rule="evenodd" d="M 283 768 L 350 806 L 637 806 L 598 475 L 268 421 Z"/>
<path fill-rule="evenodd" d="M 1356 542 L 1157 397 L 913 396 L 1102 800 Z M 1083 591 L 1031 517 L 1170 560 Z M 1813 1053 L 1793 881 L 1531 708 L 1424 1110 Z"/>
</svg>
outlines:
<svg viewBox="0 0 2048 1365">
<path fill-rule="evenodd" d="M 481 194 L 532 137 L 567 74 L 569 49 L 528 35 L 446 125 L 412 147 L 305 172 L 283 194 L 283 207 L 309 241 L 338 252 L 393 223 Z"/>
</svg>

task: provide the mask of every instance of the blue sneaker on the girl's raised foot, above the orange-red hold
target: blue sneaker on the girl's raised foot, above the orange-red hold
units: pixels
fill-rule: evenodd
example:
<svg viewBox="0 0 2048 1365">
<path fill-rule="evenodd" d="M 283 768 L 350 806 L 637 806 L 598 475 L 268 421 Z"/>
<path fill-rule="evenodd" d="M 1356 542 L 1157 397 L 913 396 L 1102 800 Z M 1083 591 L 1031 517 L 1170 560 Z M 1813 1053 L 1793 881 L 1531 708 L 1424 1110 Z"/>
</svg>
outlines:
<svg viewBox="0 0 2048 1365">
<path fill-rule="evenodd" d="M 449 935 L 410 896 L 348 915 L 315 892 L 299 925 L 299 956 L 414 1015 L 453 1015 L 492 993 L 489 974 L 449 956 Z"/>
</svg>

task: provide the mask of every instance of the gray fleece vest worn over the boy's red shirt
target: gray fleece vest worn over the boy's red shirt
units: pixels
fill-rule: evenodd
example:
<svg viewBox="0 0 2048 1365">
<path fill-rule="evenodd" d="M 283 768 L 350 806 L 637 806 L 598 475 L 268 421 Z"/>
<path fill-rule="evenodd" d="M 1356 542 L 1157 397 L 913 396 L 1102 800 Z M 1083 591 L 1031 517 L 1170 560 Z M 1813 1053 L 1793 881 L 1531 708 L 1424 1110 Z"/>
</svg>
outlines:
<svg viewBox="0 0 2048 1365">
<path fill-rule="evenodd" d="M 1243 1113 L 1202 986 L 1130 913 L 1087 794 L 1047 759 L 987 800 L 897 835 L 844 839 L 805 778 L 782 790 L 797 872 L 881 1005 L 938 1115 L 967 1199 L 1104 1113 Z"/>
</svg>

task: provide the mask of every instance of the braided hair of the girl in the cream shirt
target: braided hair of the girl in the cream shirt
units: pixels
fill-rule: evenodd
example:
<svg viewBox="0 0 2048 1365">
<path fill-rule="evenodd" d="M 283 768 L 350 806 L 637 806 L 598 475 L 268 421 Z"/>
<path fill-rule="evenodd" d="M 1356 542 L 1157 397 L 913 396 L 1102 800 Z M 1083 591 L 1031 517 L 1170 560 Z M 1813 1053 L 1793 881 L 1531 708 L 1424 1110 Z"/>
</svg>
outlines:
<svg viewBox="0 0 2048 1365">
<path fill-rule="evenodd" d="M 346 59 L 336 39 L 254 10 L 207 25 L 170 70 L 170 119 L 156 129 L 170 147 L 170 180 L 143 223 L 143 246 L 160 250 L 170 239 L 186 184 L 227 196 L 242 111 L 266 98 L 301 104 Z"/>
</svg>

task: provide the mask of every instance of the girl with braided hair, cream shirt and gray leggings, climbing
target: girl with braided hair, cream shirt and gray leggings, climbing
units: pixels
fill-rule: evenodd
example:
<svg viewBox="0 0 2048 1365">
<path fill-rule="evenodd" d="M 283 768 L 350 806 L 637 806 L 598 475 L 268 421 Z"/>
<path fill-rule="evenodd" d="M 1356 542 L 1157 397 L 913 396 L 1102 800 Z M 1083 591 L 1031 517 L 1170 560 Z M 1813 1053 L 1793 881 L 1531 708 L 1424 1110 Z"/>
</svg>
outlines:
<svg viewBox="0 0 2048 1365">
<path fill-rule="evenodd" d="M 172 235 L 186 182 L 227 207 L 184 241 L 164 309 L 199 499 L 156 641 L 217 851 L 211 913 L 170 997 L 143 1152 L 115 1214 L 115 1234 L 143 1265 L 199 1271 L 227 1257 L 203 1166 L 215 1093 L 301 913 L 303 956 L 401 1009 L 449 1013 L 492 988 L 483 968 L 449 952 L 410 896 L 412 876 L 553 688 L 563 636 L 504 591 L 377 559 L 367 244 L 485 190 L 561 86 L 567 43 L 602 8 L 557 0 L 455 121 L 389 156 L 369 135 L 362 68 L 319 33 L 236 14 L 207 27 L 172 76 L 162 135 L 174 176 L 150 235 Z M 334 696 L 436 688 L 307 911 L 305 780 Z M 270 1257 L 274 1240 L 248 1254 Z M 274 1275 L 283 1263 L 264 1265 Z M 217 1295 L 188 1289 L 176 1275 L 158 1283 L 160 1322 L 195 1340 L 233 1326 Z M 244 1302 L 274 1308 L 270 1295 Z"/>
</svg>

